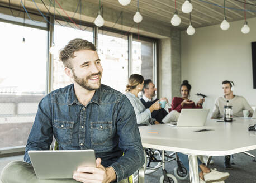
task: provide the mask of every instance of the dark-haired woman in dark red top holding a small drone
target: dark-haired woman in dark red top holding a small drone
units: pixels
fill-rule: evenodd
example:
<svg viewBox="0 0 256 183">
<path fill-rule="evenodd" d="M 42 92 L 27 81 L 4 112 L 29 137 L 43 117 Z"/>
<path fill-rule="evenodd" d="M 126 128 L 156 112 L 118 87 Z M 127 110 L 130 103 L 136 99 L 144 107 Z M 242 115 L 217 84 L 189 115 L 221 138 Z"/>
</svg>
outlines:
<svg viewBox="0 0 256 183">
<path fill-rule="evenodd" d="M 191 91 L 191 85 L 188 83 L 187 80 L 184 80 L 182 82 L 179 91 L 181 92 L 181 97 L 173 98 L 172 111 L 168 114 L 166 118 L 163 119 L 164 123 L 177 122 L 182 109 L 202 108 L 202 103 L 205 101 L 205 99 L 200 99 L 196 105 L 195 102 L 188 99 Z"/>
</svg>

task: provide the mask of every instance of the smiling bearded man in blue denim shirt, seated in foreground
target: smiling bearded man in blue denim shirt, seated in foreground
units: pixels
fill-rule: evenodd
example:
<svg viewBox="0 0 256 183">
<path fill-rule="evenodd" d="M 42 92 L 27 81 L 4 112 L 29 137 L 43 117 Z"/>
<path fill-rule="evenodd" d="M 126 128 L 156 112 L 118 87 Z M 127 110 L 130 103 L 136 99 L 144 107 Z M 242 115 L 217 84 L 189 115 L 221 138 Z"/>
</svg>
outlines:
<svg viewBox="0 0 256 183">
<path fill-rule="evenodd" d="M 27 140 L 26 162 L 9 163 L 2 182 L 39 182 L 27 152 L 49 150 L 53 136 L 59 150 L 93 149 L 96 168 L 80 167 L 73 179 L 40 182 L 127 182 L 145 161 L 131 103 L 124 94 L 101 84 L 101 60 L 91 42 L 71 40 L 59 57 L 74 83 L 41 100 Z"/>
</svg>

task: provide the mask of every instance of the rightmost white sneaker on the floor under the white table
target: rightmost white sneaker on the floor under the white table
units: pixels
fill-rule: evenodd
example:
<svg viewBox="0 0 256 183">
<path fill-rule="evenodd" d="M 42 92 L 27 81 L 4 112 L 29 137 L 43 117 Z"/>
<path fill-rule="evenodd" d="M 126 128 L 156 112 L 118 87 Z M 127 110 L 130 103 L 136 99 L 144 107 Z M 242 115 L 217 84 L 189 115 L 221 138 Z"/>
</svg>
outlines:
<svg viewBox="0 0 256 183">
<path fill-rule="evenodd" d="M 219 172 L 216 168 L 211 169 L 210 173 L 203 173 L 203 177 L 205 178 L 205 182 L 220 182 L 226 180 L 229 177 L 228 172 Z"/>
</svg>

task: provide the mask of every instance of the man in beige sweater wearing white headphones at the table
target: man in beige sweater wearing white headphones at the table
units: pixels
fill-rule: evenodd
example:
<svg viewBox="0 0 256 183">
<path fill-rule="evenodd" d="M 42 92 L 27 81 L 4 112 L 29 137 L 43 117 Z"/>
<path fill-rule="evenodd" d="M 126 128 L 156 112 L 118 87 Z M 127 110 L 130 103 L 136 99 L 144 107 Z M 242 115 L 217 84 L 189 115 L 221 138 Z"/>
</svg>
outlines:
<svg viewBox="0 0 256 183">
<path fill-rule="evenodd" d="M 215 100 L 214 110 L 211 114 L 211 119 L 223 118 L 224 114 L 224 105 L 226 105 L 227 100 L 229 100 L 229 105 L 232 106 L 233 117 L 243 117 L 243 110 L 249 110 L 249 117 L 253 115 L 253 109 L 250 107 L 249 103 L 242 96 L 233 95 L 234 91 L 233 81 L 223 81 L 222 89 L 224 97 L 219 97 Z M 230 155 L 225 156 L 224 159 L 224 168 L 233 169 L 230 164 Z"/>
</svg>

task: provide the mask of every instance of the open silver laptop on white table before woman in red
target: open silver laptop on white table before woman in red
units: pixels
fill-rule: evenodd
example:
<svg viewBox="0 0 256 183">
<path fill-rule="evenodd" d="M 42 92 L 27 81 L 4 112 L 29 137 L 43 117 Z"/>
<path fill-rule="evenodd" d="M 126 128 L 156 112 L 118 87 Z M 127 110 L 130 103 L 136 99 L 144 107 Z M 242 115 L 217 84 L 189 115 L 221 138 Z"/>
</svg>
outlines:
<svg viewBox="0 0 256 183">
<path fill-rule="evenodd" d="M 174 127 L 205 126 L 210 109 L 182 109 L 177 124 L 167 124 Z"/>
</svg>

